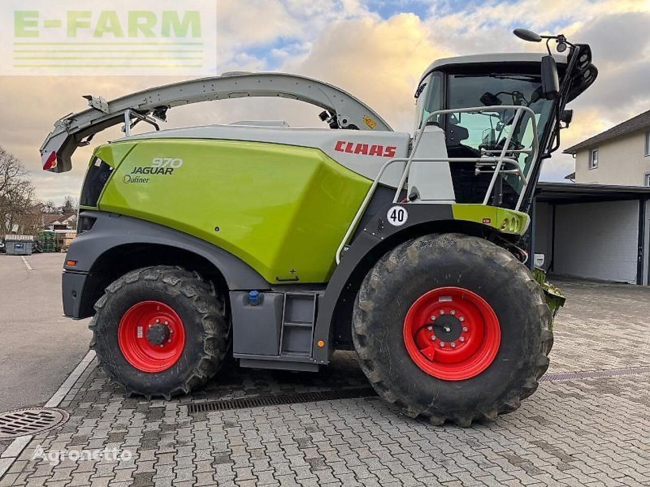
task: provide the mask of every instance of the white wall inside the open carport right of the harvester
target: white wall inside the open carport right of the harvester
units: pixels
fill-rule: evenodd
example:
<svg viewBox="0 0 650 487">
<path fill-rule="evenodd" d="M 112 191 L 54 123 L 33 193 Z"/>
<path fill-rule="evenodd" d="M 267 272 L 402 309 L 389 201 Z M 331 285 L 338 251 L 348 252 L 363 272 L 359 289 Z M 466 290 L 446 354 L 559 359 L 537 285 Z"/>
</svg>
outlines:
<svg viewBox="0 0 650 487">
<path fill-rule="evenodd" d="M 638 201 L 557 205 L 554 273 L 636 284 Z"/>
</svg>

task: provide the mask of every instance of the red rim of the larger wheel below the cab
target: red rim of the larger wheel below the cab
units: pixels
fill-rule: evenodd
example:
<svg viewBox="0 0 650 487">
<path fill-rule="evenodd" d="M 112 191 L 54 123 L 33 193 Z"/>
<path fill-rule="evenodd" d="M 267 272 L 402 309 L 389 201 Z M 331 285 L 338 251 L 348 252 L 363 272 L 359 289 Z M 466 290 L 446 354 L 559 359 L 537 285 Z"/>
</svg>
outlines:
<svg viewBox="0 0 650 487">
<path fill-rule="evenodd" d="M 404 344 L 424 372 L 463 381 L 492 363 L 501 342 L 499 319 L 467 289 L 436 288 L 421 295 L 404 319 Z"/>
</svg>

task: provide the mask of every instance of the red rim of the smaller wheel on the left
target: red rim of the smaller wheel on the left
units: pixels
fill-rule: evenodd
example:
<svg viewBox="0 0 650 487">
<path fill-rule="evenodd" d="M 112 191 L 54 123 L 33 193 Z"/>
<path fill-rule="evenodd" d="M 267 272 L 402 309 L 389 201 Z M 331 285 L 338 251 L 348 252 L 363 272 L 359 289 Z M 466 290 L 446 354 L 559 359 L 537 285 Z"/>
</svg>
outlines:
<svg viewBox="0 0 650 487">
<path fill-rule="evenodd" d="M 143 372 L 173 366 L 185 347 L 183 321 L 160 301 L 131 306 L 120 320 L 118 343 L 127 362 Z"/>
</svg>

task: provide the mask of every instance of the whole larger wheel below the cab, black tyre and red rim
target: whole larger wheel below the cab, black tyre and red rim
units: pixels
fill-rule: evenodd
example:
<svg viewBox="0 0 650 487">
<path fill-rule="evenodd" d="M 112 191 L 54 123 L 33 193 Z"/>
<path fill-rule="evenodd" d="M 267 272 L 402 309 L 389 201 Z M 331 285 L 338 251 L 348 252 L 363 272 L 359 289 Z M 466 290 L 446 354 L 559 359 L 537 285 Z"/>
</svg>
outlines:
<svg viewBox="0 0 650 487">
<path fill-rule="evenodd" d="M 365 277 L 352 321 L 361 369 L 379 395 L 436 425 L 468 427 L 517 409 L 549 365 L 551 314 L 539 284 L 482 238 L 398 245 Z"/>
</svg>

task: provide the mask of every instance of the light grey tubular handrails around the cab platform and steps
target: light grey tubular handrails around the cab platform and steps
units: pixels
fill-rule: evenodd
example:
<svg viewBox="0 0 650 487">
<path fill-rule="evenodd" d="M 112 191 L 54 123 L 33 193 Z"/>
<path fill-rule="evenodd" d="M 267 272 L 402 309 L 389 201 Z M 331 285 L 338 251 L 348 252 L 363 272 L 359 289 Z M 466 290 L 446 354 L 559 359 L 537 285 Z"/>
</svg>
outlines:
<svg viewBox="0 0 650 487">
<path fill-rule="evenodd" d="M 530 116 L 532 116 L 532 121 L 533 121 L 532 160 L 536 160 L 539 153 L 539 139 L 538 139 L 538 132 L 537 132 L 537 124 L 535 120 L 535 112 L 530 108 L 528 108 L 528 106 L 521 106 L 521 105 L 474 106 L 471 108 L 436 110 L 435 112 L 432 112 L 431 114 L 429 114 L 429 116 L 426 119 L 422 121 L 421 127 L 419 127 L 419 129 L 417 129 L 417 131 L 415 132 L 415 139 L 413 141 L 413 148 L 411 149 L 411 155 L 409 155 L 408 157 L 396 157 L 396 158 L 389 159 L 379 169 L 377 176 L 375 177 L 374 181 L 372 181 L 372 185 L 370 185 L 370 188 L 366 193 L 365 197 L 363 198 L 363 201 L 361 202 L 359 209 L 354 215 L 354 218 L 352 219 L 352 223 L 350 223 L 348 230 L 345 232 L 345 235 L 343 236 L 343 240 L 341 240 L 341 243 L 337 248 L 336 256 L 335 256 L 337 265 L 341 263 L 341 253 L 343 253 L 343 249 L 345 248 L 348 241 L 352 237 L 352 234 L 356 230 L 359 221 L 361 221 L 361 217 L 363 216 L 366 208 L 368 207 L 370 203 L 370 199 L 372 199 L 372 196 L 374 195 L 374 192 L 376 191 L 377 186 L 379 185 L 379 181 L 382 178 L 383 173 L 388 168 L 388 166 L 390 166 L 395 162 L 406 162 L 406 166 L 404 166 L 402 177 L 400 178 L 400 182 L 396 188 L 395 197 L 393 198 L 393 203 L 398 203 L 399 201 L 400 192 L 404 188 L 404 184 L 411 171 L 411 164 L 413 162 L 474 162 L 474 164 L 476 165 L 479 164 L 484 165 L 482 164 L 484 162 L 496 162 L 494 175 L 492 176 L 489 182 L 489 186 L 487 188 L 487 192 L 483 200 L 483 205 L 487 205 L 487 203 L 489 202 L 489 197 L 491 195 L 491 192 L 494 189 L 495 182 L 497 181 L 497 177 L 499 176 L 500 173 L 502 172 L 507 172 L 509 174 L 516 173 L 517 176 L 519 176 L 519 178 L 522 181 L 519 199 L 517 200 L 517 205 L 515 205 L 515 210 L 519 210 L 519 206 L 521 206 L 521 200 L 523 198 L 524 190 L 526 186 L 528 186 L 528 177 L 526 176 L 526 173 L 524 173 L 524 171 L 521 169 L 521 166 L 519 166 L 519 162 L 517 162 L 517 160 L 505 156 L 506 153 L 509 152 L 511 153 L 520 152 L 519 149 L 512 149 L 510 151 L 508 150 L 508 147 L 510 146 L 510 142 L 512 142 L 512 135 L 514 130 L 511 130 L 510 133 L 508 134 L 508 137 L 506 138 L 506 142 L 504 143 L 499 156 L 482 156 L 476 158 L 474 157 L 441 157 L 441 158 L 415 157 L 415 153 L 417 152 L 417 147 L 419 147 L 420 141 L 422 140 L 422 134 L 424 134 L 424 129 L 426 128 L 427 123 L 431 121 L 431 119 L 434 118 L 435 116 L 450 114 L 450 113 L 477 113 L 477 112 L 498 111 L 498 110 L 516 110 L 515 117 L 513 118 L 513 123 L 512 123 L 513 129 L 517 126 L 517 123 L 519 123 L 519 118 L 521 117 L 522 112 L 528 112 Z M 521 151 L 521 152 L 526 152 L 526 151 Z M 502 171 L 501 168 L 504 163 L 513 164 L 518 170 L 515 171 L 515 169 L 506 169 L 506 171 Z"/>
</svg>

